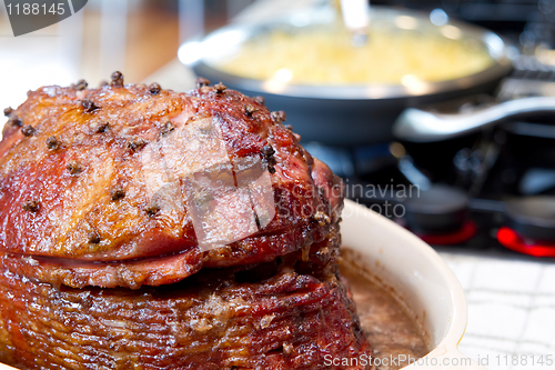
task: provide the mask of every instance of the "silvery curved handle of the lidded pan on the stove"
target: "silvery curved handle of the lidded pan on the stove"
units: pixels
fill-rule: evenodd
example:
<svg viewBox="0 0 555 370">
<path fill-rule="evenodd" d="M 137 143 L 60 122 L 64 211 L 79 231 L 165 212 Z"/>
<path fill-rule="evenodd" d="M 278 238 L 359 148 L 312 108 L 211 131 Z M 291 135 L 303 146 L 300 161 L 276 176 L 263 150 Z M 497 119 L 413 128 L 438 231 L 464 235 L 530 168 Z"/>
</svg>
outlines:
<svg viewBox="0 0 555 370">
<path fill-rule="evenodd" d="M 555 112 L 555 97 L 515 99 L 460 114 L 408 108 L 395 121 L 393 134 L 413 142 L 441 141 L 480 131 L 509 117 L 542 112 Z"/>
</svg>

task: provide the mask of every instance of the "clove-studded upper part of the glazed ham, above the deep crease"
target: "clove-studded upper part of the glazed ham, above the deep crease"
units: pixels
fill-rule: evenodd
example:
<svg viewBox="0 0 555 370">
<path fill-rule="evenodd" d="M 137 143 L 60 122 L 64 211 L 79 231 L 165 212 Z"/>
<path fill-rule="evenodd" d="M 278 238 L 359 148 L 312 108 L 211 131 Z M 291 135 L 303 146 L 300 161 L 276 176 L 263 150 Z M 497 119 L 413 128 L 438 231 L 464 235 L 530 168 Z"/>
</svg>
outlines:
<svg viewBox="0 0 555 370">
<path fill-rule="evenodd" d="M 214 132 L 220 141 L 198 144 Z M 269 169 L 276 214 L 202 250 L 188 207 L 194 176 L 229 172 L 240 186 L 239 171 L 259 162 Z M 337 188 L 279 114 L 239 92 L 44 87 L 3 129 L 0 267 L 56 286 L 138 289 L 202 267 L 271 261 L 323 240 L 342 208 Z M 216 237 L 242 228 L 226 210 L 243 200 L 220 200 Z"/>
</svg>

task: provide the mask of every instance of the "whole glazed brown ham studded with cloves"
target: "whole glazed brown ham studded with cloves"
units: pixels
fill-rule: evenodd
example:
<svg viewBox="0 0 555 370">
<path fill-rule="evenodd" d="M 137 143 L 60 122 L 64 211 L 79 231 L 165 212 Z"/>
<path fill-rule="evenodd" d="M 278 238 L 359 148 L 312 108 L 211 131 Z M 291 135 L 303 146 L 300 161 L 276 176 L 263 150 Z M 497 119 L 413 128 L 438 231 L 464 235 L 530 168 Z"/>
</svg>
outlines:
<svg viewBox="0 0 555 370">
<path fill-rule="evenodd" d="M 99 88 L 40 88 L 4 113 L 0 362 L 330 369 L 370 358 L 339 279 L 343 184 L 283 112 L 205 79 L 178 93 L 115 72 Z"/>
</svg>

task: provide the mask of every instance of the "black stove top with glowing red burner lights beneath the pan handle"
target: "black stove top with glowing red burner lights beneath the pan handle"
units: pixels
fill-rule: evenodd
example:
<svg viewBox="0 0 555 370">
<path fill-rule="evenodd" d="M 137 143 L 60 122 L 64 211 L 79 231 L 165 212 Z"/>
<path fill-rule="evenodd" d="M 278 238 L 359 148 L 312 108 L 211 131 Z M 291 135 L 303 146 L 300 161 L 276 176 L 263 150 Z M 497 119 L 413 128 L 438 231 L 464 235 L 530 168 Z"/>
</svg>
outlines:
<svg viewBox="0 0 555 370">
<path fill-rule="evenodd" d="M 544 72 L 516 68 L 496 97 L 430 109 L 555 96 L 555 72 Z M 343 177 L 347 198 L 436 248 L 555 260 L 554 123 L 555 113 L 544 113 L 440 142 L 305 147 Z"/>
</svg>

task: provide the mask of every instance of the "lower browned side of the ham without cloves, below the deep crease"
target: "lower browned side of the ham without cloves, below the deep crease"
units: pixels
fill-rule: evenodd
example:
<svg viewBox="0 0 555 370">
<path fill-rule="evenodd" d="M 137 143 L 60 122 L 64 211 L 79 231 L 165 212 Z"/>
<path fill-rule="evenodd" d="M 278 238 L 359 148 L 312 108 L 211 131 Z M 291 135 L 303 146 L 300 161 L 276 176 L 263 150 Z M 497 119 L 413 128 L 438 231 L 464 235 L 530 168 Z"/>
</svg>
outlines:
<svg viewBox="0 0 555 370">
<path fill-rule="evenodd" d="M 326 367 L 325 357 L 371 349 L 335 278 L 337 248 L 334 231 L 306 262 L 299 251 L 139 290 L 57 289 L 0 273 L 0 361 L 23 369 L 345 369 Z"/>
</svg>

